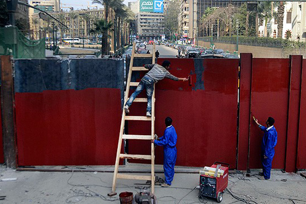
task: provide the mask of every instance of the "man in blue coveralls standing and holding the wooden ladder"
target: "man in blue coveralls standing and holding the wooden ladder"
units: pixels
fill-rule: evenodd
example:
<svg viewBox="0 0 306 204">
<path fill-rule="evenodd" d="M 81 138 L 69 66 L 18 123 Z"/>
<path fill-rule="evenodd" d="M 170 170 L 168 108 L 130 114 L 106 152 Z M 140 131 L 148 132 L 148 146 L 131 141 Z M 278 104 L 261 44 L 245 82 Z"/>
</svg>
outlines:
<svg viewBox="0 0 306 204">
<path fill-rule="evenodd" d="M 174 127 L 172 126 L 172 119 L 167 117 L 165 119 L 166 130 L 164 136 L 157 139 L 151 140 L 152 143 L 164 146 L 164 173 L 165 173 L 165 183 L 162 187 L 171 186 L 171 182 L 174 177 L 174 166 L 176 162 L 176 141 L 177 135 Z"/>
</svg>

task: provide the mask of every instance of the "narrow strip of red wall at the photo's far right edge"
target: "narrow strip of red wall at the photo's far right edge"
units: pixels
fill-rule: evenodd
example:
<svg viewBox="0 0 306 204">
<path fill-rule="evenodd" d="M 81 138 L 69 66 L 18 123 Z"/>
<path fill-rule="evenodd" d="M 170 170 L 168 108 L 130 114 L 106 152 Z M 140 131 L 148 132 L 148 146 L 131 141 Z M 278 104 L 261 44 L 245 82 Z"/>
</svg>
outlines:
<svg viewBox="0 0 306 204">
<path fill-rule="evenodd" d="M 297 169 L 306 169 L 306 60 L 303 60 L 301 79 L 301 100 L 299 118 L 299 136 L 297 146 Z"/>
</svg>

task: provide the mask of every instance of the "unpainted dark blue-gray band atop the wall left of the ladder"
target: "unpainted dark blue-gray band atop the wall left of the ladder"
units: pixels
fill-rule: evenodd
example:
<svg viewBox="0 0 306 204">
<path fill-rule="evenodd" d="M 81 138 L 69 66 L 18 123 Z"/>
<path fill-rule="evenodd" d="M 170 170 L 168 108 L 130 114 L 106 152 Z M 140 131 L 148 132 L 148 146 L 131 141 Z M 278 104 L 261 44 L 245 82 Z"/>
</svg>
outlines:
<svg viewBox="0 0 306 204">
<path fill-rule="evenodd" d="M 119 88 L 123 98 L 122 59 L 18 59 L 14 73 L 15 92 Z"/>
</svg>

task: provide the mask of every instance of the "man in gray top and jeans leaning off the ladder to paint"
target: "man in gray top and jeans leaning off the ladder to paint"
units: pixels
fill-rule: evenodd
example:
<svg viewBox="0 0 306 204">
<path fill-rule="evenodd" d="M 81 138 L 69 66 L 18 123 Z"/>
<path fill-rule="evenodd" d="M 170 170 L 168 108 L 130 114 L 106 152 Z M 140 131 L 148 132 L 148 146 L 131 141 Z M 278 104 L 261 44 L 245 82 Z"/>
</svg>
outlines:
<svg viewBox="0 0 306 204">
<path fill-rule="evenodd" d="M 129 100 L 126 101 L 124 105 L 125 113 L 129 113 L 129 107 L 132 105 L 134 99 L 138 96 L 138 94 L 143 90 L 146 89 L 146 94 L 148 98 L 148 104 L 146 109 L 146 116 L 151 117 L 151 104 L 152 104 L 152 94 L 154 91 L 154 84 L 161 81 L 164 78 L 168 78 L 173 81 L 187 81 L 186 78 L 177 78 L 174 77 L 168 71 L 170 69 L 170 62 L 165 60 L 161 65 L 159 64 L 146 64 L 144 68 L 149 69 L 149 71 L 144 75 L 144 77 L 139 82 L 138 87 L 131 95 Z"/>
</svg>

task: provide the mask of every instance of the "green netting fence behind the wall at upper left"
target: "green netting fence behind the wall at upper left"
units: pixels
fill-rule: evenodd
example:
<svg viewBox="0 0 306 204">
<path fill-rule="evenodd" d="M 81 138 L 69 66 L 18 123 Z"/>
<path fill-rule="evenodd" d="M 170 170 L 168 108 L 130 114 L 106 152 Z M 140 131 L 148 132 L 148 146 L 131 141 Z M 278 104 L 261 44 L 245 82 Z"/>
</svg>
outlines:
<svg viewBox="0 0 306 204">
<path fill-rule="evenodd" d="M 45 58 L 45 40 L 30 40 L 17 27 L 0 28 L 0 55 L 14 59 Z"/>
</svg>

